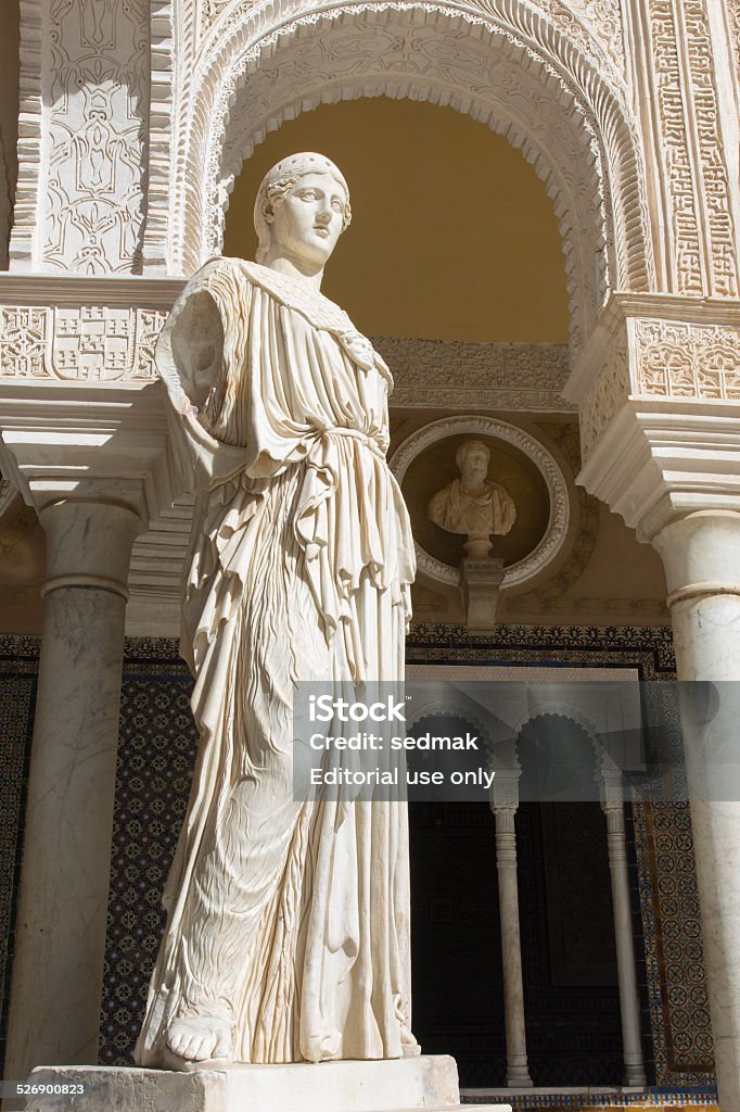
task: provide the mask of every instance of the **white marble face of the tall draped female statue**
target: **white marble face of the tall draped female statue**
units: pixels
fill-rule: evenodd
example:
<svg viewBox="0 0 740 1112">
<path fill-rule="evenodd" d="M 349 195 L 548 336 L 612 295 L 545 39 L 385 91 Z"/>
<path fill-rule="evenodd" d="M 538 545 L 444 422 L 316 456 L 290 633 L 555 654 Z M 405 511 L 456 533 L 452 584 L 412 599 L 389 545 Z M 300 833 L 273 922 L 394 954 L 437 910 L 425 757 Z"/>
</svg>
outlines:
<svg viewBox="0 0 740 1112">
<path fill-rule="evenodd" d="M 267 217 L 270 246 L 311 267 L 323 267 L 337 246 L 347 193 L 330 173 L 306 173 Z"/>
</svg>

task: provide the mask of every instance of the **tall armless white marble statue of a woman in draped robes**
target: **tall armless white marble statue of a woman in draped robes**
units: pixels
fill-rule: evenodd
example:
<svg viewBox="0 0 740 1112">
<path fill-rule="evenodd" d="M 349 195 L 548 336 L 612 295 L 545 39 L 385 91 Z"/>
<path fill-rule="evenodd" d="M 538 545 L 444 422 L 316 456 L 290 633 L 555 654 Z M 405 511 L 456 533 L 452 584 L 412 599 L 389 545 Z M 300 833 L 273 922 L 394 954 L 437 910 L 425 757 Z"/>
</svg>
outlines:
<svg viewBox="0 0 740 1112">
<path fill-rule="evenodd" d="M 383 360 L 320 292 L 347 183 L 296 155 L 258 262 L 213 259 L 157 349 L 197 493 L 182 647 L 200 748 L 141 1065 L 418 1053 L 401 803 L 292 788 L 292 685 L 402 675 L 413 545 Z"/>
</svg>

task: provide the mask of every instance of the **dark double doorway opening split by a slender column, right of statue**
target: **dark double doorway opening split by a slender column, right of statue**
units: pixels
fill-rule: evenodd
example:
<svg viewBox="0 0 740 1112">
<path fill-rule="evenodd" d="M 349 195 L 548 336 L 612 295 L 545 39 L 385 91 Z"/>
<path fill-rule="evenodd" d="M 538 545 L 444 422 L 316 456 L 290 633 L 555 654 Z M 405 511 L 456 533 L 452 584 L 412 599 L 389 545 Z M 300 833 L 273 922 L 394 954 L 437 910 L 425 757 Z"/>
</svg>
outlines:
<svg viewBox="0 0 740 1112">
<path fill-rule="evenodd" d="M 570 746 L 590 744 L 566 718 L 549 716 L 528 727 L 542 728 L 552 735 L 549 744 L 558 743 L 561 731 L 569 733 Z M 521 743 L 526 749 L 523 735 Z M 463 1088 L 501 1086 L 506 1044 L 493 816 L 484 803 L 414 803 L 409 818 L 414 1034 L 424 1053 L 457 1059 Z M 593 801 L 523 802 L 516 822 L 532 1080 L 553 1086 L 621 1084 L 601 807 Z"/>
</svg>

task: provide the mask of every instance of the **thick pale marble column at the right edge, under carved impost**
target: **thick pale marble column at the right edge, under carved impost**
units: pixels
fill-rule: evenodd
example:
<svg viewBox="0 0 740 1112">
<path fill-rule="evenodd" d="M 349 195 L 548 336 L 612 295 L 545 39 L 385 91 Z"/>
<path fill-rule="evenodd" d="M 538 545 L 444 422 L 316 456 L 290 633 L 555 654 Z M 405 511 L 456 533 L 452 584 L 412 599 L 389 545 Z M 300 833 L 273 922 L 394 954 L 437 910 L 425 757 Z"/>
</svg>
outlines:
<svg viewBox="0 0 740 1112">
<path fill-rule="evenodd" d="M 722 1109 L 740 1109 L 740 513 L 663 525 L 666 566 Z"/>
</svg>

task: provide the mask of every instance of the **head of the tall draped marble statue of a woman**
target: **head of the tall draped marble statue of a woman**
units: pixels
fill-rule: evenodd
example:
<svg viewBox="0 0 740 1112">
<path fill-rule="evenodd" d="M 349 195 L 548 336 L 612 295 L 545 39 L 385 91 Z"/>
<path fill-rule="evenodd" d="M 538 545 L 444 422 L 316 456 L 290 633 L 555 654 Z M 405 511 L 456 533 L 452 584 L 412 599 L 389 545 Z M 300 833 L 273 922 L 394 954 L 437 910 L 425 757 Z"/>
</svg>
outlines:
<svg viewBox="0 0 740 1112">
<path fill-rule="evenodd" d="M 257 261 L 283 251 L 321 266 L 352 218 L 341 171 L 323 155 L 291 155 L 262 179 L 254 201 Z"/>
</svg>

